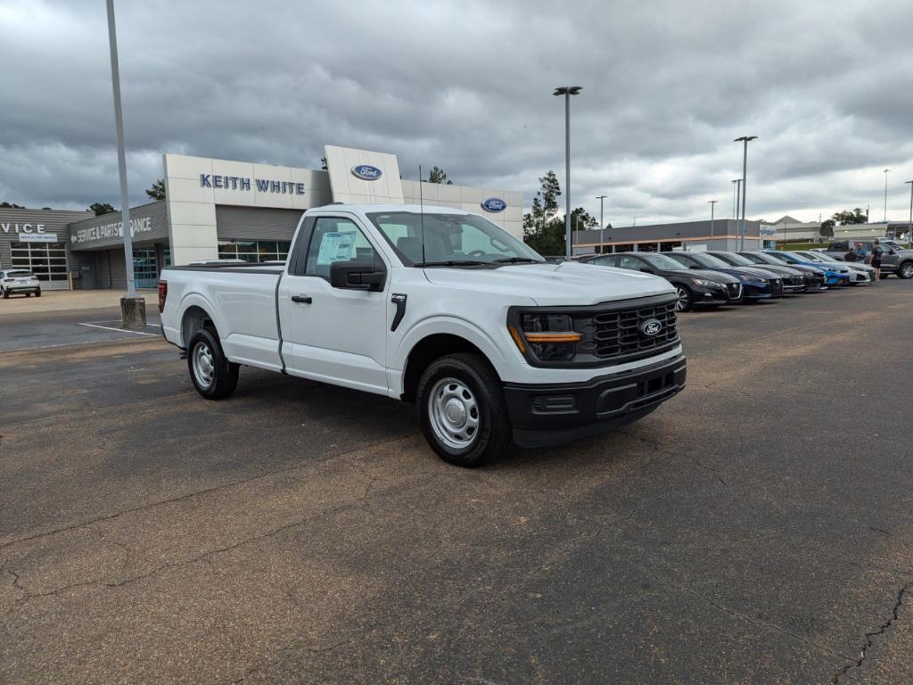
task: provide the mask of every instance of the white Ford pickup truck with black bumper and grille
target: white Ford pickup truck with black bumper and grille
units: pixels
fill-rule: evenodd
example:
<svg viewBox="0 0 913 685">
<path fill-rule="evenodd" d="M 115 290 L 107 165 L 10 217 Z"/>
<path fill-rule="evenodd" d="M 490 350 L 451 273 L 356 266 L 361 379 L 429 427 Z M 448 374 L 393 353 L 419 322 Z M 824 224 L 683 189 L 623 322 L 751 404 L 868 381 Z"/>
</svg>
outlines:
<svg viewBox="0 0 913 685">
<path fill-rule="evenodd" d="M 647 274 L 551 264 L 446 207 L 328 205 L 286 263 L 163 269 L 163 334 L 200 395 L 238 368 L 414 402 L 458 466 L 649 414 L 685 386 L 675 290 Z"/>
</svg>

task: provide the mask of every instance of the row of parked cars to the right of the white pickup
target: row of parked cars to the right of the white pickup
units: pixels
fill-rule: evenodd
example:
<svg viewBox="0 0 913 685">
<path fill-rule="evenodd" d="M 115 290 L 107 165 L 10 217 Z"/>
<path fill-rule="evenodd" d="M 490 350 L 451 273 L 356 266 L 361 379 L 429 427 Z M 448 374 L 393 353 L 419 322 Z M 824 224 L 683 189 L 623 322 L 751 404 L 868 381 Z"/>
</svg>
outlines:
<svg viewBox="0 0 913 685">
<path fill-rule="evenodd" d="M 616 252 L 580 261 L 663 277 L 677 290 L 677 311 L 855 286 L 876 275 L 867 264 L 813 251 Z"/>
</svg>

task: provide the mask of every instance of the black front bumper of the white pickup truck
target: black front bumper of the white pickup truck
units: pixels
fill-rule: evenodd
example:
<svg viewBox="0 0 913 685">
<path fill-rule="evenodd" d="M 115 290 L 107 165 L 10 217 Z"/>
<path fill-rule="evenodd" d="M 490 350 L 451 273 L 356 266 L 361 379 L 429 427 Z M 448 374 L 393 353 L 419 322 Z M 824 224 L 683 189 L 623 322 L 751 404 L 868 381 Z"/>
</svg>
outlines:
<svg viewBox="0 0 913 685">
<path fill-rule="evenodd" d="M 514 442 L 541 447 L 624 426 L 685 389 L 684 356 L 587 383 L 504 385 Z"/>
</svg>

